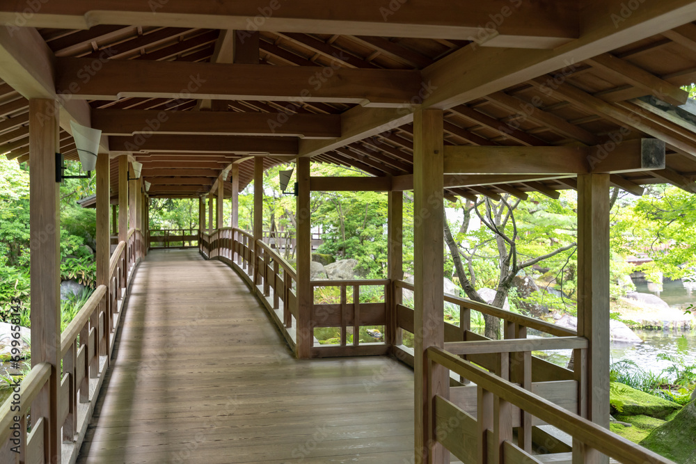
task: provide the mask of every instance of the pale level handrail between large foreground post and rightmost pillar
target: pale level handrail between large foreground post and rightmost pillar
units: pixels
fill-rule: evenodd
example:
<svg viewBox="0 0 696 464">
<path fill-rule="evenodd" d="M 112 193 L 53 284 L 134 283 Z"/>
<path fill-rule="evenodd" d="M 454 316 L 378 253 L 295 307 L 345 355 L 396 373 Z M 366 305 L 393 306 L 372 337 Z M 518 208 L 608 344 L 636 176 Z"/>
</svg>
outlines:
<svg viewBox="0 0 696 464">
<path fill-rule="evenodd" d="M 468 355 L 514 353 L 516 351 L 587 349 L 587 346 L 590 346 L 590 342 L 585 337 L 511 338 L 505 340 L 446 342 L 445 350 L 454 355 Z"/>
</svg>

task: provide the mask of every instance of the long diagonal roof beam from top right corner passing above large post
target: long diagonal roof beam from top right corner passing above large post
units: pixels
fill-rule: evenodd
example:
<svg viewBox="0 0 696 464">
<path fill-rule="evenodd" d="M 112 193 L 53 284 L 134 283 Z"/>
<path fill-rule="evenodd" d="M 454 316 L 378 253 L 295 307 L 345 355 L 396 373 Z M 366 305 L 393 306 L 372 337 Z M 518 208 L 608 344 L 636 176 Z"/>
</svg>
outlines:
<svg viewBox="0 0 696 464">
<path fill-rule="evenodd" d="M 356 107 L 342 114 L 342 136 L 333 141 L 301 141 L 300 156 L 313 157 L 413 120 L 418 108 L 449 109 L 503 90 L 541 74 L 567 68 L 573 72 L 588 58 L 696 20 L 688 0 L 642 3 L 631 15 L 619 15 L 623 0 L 592 3 L 580 12 L 583 35 L 552 51 L 480 49 L 468 45 L 423 70 L 425 89 L 418 104 L 378 112 Z M 590 143 L 592 145 L 594 143 Z"/>
</svg>

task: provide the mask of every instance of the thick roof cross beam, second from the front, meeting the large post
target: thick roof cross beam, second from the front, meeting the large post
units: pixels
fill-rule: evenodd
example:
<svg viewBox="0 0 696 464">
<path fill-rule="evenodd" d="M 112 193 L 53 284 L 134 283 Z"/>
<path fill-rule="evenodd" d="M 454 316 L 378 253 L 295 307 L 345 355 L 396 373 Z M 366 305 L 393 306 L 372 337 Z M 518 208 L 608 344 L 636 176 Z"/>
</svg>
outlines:
<svg viewBox="0 0 696 464">
<path fill-rule="evenodd" d="M 56 88 L 74 99 L 169 97 L 343 102 L 399 106 L 418 95 L 420 72 L 315 66 L 113 60 L 84 82 L 94 61 L 57 58 Z M 190 94 L 190 95 L 188 95 Z"/>
</svg>

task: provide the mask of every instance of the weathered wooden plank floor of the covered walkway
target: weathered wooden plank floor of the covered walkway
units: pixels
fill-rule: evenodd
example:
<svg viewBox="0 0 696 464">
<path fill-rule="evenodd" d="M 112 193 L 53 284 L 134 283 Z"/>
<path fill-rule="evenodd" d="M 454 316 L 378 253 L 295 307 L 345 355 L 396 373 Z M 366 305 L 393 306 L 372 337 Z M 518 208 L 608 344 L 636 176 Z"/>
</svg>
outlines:
<svg viewBox="0 0 696 464">
<path fill-rule="evenodd" d="M 299 361 L 237 274 L 197 251 L 136 271 L 78 463 L 381 463 L 413 456 L 413 372 Z"/>
</svg>

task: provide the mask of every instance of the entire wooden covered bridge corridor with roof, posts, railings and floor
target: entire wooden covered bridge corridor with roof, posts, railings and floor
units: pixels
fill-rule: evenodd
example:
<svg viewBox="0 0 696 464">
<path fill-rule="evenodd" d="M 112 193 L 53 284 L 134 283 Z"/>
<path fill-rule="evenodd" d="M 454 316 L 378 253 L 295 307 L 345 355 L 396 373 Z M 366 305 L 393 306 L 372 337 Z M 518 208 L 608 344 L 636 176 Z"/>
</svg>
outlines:
<svg viewBox="0 0 696 464">
<path fill-rule="evenodd" d="M 189 408 L 223 417 L 198 446 L 219 459 L 192 454 L 206 464 L 232 462 L 237 445 L 245 462 L 292 461 L 290 445 L 312 445 L 324 418 L 342 430 L 316 445 L 326 453 L 316 462 L 356 456 L 345 447 L 357 443 L 365 454 L 346 459 L 370 462 L 381 449 L 399 458 L 374 462 L 446 464 L 451 452 L 466 464 L 539 464 L 535 426 L 551 424 L 573 436 L 558 453 L 566 462 L 668 464 L 607 430 L 608 196 L 610 186 L 642 195 L 665 182 L 696 193 L 696 104 L 682 88 L 696 81 L 696 1 L 317 4 L 0 2 L 0 154 L 29 163 L 32 288 L 32 369 L 19 411 L 11 401 L 0 410 L 0 462 L 72 464 L 84 440 L 83 461 L 168 462 L 168 443 L 184 451 L 194 423 L 205 431 L 185 419 L 193 413 L 177 417 Z M 78 150 L 80 131 L 98 132 L 91 150 Z M 95 161 L 85 170 L 95 173 L 97 288 L 61 332 L 59 186 L 63 159 L 78 151 Z M 296 266 L 263 241 L 264 170 L 283 163 L 295 166 Z M 363 175 L 317 177 L 313 163 Z M 253 227 L 241 230 L 239 192 L 252 182 Z M 443 295 L 444 200 L 563 189 L 578 198 L 578 330 Z M 388 273 L 332 281 L 340 303 L 314 301 L 329 285 L 310 277 L 315 191 L 388 194 Z M 404 191 L 415 211 L 413 284 L 402 265 Z M 161 242 L 150 237 L 150 198 L 197 199 L 187 239 L 214 261 L 148 256 Z M 368 285 L 383 300 L 360 301 Z M 444 301 L 460 308 L 459 326 L 443 321 Z M 472 312 L 498 319 L 505 339 L 473 333 Z M 383 342 L 349 340 L 361 326 L 383 326 Z M 340 344 L 317 346 L 323 327 L 339 329 Z M 572 369 L 532 356 L 554 348 L 575 350 Z M 388 374 L 410 383 L 351 390 L 392 366 L 374 355 L 411 365 L 413 375 L 398 365 Z M 239 435 L 236 416 L 221 414 L 231 387 L 249 401 Z M 252 456 L 261 451 L 271 457 Z"/>
</svg>

